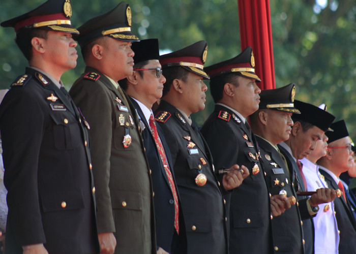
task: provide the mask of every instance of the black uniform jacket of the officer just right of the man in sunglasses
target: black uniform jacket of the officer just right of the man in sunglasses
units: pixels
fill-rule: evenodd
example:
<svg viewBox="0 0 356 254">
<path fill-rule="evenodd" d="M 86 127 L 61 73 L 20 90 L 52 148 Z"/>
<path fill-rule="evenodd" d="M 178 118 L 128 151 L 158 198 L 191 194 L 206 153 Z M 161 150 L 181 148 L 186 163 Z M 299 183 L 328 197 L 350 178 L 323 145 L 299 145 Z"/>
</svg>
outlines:
<svg viewBox="0 0 356 254">
<path fill-rule="evenodd" d="M 182 198 L 188 253 L 227 253 L 225 205 L 209 148 L 171 104 L 161 101 L 155 115 L 170 149 Z M 199 173 L 207 178 L 204 186 L 195 183 Z"/>
</svg>

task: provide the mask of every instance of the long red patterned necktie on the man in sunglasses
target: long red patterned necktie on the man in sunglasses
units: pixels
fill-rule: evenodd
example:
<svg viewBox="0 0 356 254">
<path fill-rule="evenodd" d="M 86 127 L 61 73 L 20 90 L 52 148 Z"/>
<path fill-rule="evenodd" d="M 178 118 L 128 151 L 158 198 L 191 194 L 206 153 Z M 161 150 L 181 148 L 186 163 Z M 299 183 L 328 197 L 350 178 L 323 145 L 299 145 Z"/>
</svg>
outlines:
<svg viewBox="0 0 356 254">
<path fill-rule="evenodd" d="M 177 192 L 176 192 L 176 189 L 175 189 L 172 172 L 170 172 L 170 169 L 169 169 L 169 166 L 168 166 L 166 153 L 165 153 L 164 148 L 162 146 L 161 140 L 160 140 L 160 138 L 158 136 L 157 127 L 156 127 L 156 123 L 155 123 L 155 119 L 153 118 L 153 115 L 150 116 L 150 129 L 151 129 L 152 136 L 153 136 L 153 138 L 155 140 L 158 152 L 160 153 L 160 157 L 161 157 L 164 169 L 165 169 L 166 174 L 167 174 L 167 178 L 168 178 L 170 189 L 172 190 L 173 199 L 174 199 L 174 228 L 177 231 L 177 234 L 179 234 L 178 195 L 177 195 Z"/>
</svg>

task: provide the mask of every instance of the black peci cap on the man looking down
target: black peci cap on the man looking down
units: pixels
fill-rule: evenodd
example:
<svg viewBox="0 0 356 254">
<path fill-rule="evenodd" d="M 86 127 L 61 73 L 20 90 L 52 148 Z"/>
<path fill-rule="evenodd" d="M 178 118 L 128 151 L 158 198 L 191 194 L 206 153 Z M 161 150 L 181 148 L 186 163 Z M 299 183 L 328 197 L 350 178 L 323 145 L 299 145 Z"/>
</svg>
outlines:
<svg viewBox="0 0 356 254">
<path fill-rule="evenodd" d="M 324 132 L 328 131 L 329 126 L 335 120 L 335 116 L 329 112 L 309 103 L 295 100 L 294 107 L 301 112 L 300 114 L 293 114 L 294 121 L 309 122 Z"/>
</svg>

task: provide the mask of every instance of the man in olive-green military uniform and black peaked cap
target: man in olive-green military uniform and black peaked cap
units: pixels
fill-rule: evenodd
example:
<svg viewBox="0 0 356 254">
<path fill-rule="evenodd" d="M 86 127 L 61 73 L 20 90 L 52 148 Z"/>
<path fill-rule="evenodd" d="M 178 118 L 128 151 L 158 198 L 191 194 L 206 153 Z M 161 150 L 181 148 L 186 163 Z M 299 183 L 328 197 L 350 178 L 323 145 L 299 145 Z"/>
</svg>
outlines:
<svg viewBox="0 0 356 254">
<path fill-rule="evenodd" d="M 133 71 L 131 43 L 138 38 L 131 33 L 130 6 L 122 2 L 78 30 L 86 68 L 70 94 L 91 124 L 101 249 L 155 253 L 149 164 L 135 108 L 117 83 Z"/>
</svg>

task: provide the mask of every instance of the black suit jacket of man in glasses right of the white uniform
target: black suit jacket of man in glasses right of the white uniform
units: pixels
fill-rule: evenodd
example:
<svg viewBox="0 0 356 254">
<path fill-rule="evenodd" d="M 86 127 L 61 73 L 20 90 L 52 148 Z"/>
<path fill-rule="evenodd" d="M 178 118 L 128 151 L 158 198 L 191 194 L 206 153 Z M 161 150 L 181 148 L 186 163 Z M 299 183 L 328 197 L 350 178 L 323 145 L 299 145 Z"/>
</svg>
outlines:
<svg viewBox="0 0 356 254">
<path fill-rule="evenodd" d="M 334 178 L 319 167 L 320 173 L 325 177 L 325 181 L 330 188 L 339 189 Z M 347 198 L 346 198 L 347 199 Z M 335 217 L 340 231 L 339 253 L 356 253 L 356 222 L 350 210 L 348 202 L 343 197 L 336 197 L 334 200 Z"/>
</svg>

